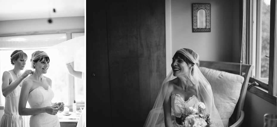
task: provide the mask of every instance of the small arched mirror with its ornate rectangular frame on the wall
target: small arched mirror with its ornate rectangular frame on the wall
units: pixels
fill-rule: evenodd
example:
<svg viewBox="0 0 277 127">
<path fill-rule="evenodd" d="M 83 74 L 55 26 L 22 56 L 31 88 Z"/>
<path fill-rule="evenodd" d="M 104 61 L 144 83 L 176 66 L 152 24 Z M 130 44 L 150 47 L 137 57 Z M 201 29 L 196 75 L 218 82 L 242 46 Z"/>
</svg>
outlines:
<svg viewBox="0 0 277 127">
<path fill-rule="evenodd" d="M 192 4 L 192 32 L 211 32 L 211 4 Z"/>
</svg>

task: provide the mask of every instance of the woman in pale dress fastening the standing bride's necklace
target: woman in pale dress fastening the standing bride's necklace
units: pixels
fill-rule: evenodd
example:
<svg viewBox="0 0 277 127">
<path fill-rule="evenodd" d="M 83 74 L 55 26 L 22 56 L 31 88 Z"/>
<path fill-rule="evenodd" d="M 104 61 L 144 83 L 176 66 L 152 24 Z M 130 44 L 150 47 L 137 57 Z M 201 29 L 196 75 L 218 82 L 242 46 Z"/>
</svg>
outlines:
<svg viewBox="0 0 277 127">
<path fill-rule="evenodd" d="M 34 73 L 32 70 L 24 69 L 27 55 L 22 50 L 15 50 L 11 54 L 11 64 L 13 70 L 4 71 L 2 76 L 2 93 L 5 97 L 4 113 L 1 118 L 0 127 L 25 127 L 28 125 L 28 117 L 18 114 L 18 101 L 22 82 L 29 75 Z"/>
</svg>

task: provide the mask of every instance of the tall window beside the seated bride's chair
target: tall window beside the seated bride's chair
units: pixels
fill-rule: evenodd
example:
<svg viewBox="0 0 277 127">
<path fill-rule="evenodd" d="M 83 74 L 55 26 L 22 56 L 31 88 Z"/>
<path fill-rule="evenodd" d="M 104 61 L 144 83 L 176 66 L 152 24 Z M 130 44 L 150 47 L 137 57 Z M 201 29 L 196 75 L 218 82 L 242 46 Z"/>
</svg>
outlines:
<svg viewBox="0 0 277 127">
<path fill-rule="evenodd" d="M 270 95 L 277 91 L 276 86 L 276 1 L 252 0 L 252 57 L 250 64 L 255 65 L 252 75 L 266 84 Z M 271 5 L 272 4 L 272 5 Z M 250 28 L 250 29 L 251 29 Z M 275 74 L 275 76 L 274 76 Z M 273 80 L 274 79 L 274 80 Z M 274 83 L 273 83 L 274 82 Z M 274 84 L 274 85 L 273 85 Z M 273 89 L 274 88 L 274 89 Z"/>
</svg>

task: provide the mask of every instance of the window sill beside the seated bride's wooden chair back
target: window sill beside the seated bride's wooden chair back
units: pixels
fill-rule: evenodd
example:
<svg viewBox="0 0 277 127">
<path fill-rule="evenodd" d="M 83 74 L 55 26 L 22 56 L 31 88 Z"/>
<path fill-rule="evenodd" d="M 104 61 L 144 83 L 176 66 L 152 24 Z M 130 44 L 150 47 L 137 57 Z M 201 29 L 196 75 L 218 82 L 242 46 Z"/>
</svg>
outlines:
<svg viewBox="0 0 277 127">
<path fill-rule="evenodd" d="M 259 82 L 257 82 L 257 83 L 259 83 Z M 250 84 L 250 82 L 249 82 L 249 84 Z M 276 105 L 276 97 L 274 97 L 272 95 L 269 95 L 268 94 L 268 90 L 266 90 L 266 89 L 264 89 L 262 87 L 251 86 L 247 91 L 257 95 L 258 97 L 266 100 L 267 102 L 269 102 L 269 103 L 271 103 L 273 105 Z"/>
</svg>

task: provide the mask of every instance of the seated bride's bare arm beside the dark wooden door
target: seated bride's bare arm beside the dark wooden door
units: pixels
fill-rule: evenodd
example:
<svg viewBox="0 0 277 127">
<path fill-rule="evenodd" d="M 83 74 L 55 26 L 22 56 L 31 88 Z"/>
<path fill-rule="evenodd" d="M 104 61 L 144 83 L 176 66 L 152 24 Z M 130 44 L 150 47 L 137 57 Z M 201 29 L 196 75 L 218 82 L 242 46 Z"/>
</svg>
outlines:
<svg viewBox="0 0 277 127">
<path fill-rule="evenodd" d="M 173 90 L 172 85 L 168 85 L 166 95 L 164 98 L 164 124 L 166 127 L 174 127 L 171 119 L 171 92 Z"/>
</svg>

